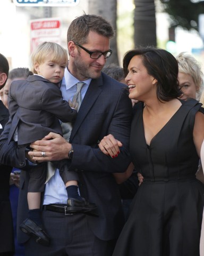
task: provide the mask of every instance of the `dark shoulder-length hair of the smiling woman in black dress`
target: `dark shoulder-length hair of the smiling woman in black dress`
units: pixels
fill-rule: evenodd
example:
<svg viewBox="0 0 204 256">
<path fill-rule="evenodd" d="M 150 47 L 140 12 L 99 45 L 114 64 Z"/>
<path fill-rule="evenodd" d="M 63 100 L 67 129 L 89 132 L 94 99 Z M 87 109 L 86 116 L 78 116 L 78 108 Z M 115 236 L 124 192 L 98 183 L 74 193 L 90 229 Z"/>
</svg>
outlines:
<svg viewBox="0 0 204 256">
<path fill-rule="evenodd" d="M 182 94 L 177 79 L 179 67 L 174 56 L 163 49 L 156 47 L 140 47 L 125 53 L 123 69 L 128 75 L 128 65 L 135 55 L 140 55 L 143 65 L 149 75 L 157 79 L 157 98 L 160 101 L 169 101 Z"/>
</svg>

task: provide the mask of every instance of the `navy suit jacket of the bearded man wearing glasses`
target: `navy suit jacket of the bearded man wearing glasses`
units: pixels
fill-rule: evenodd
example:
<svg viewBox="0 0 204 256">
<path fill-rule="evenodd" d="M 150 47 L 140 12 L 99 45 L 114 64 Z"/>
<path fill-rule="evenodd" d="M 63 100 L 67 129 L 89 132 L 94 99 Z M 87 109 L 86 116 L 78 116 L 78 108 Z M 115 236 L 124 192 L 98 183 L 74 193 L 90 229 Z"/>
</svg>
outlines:
<svg viewBox="0 0 204 256">
<path fill-rule="evenodd" d="M 67 165 L 81 175 L 81 195 L 98 206 L 99 217 L 87 215 L 88 225 L 103 240 L 117 238 L 124 225 L 121 197 L 112 175 L 113 172 L 124 172 L 131 162 L 129 137 L 132 104 L 128 87 L 124 87 L 124 84 L 103 73 L 98 79 L 92 79 L 70 138 L 74 154 L 72 162 L 67 160 Z M 10 127 L 11 123 L 8 122 L 0 137 L 0 162 L 22 168 L 27 162 L 24 151 L 17 149 L 15 142 L 7 144 Z M 110 133 L 123 143 L 121 153 L 116 158 L 106 156 L 98 148 L 98 140 Z M 18 223 L 27 216 L 27 187 L 28 175 L 23 171 Z M 28 236 L 19 231 L 19 242 L 27 239 Z"/>
</svg>

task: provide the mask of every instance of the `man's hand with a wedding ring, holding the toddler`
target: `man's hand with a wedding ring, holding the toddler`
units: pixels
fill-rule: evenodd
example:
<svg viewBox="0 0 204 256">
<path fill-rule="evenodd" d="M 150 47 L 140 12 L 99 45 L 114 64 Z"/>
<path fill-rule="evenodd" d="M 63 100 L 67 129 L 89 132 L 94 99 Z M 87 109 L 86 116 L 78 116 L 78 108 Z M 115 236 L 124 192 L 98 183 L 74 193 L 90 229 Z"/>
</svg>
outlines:
<svg viewBox="0 0 204 256">
<path fill-rule="evenodd" d="M 33 161 L 41 163 L 68 158 L 72 145 L 60 134 L 50 132 L 45 138 L 31 143 L 30 147 L 33 151 L 29 151 L 28 155 Z"/>
</svg>

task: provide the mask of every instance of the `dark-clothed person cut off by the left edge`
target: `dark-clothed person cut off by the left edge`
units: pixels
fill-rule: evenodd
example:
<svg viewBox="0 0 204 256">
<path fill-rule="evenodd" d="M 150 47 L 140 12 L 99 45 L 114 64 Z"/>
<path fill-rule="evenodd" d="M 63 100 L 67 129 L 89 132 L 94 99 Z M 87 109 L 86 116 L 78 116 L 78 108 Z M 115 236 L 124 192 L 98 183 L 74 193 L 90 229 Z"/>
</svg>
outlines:
<svg viewBox="0 0 204 256">
<path fill-rule="evenodd" d="M 3 54 L 0 53 L 0 89 L 6 83 L 8 76 L 9 65 Z M 0 101 L 0 133 L 2 133 L 6 122 L 8 121 L 8 110 Z M 1 179 L 0 179 L 0 255 L 10 256 L 14 253 L 14 234 L 11 204 L 9 201 L 9 180 L 12 167 L 1 164 Z"/>
</svg>

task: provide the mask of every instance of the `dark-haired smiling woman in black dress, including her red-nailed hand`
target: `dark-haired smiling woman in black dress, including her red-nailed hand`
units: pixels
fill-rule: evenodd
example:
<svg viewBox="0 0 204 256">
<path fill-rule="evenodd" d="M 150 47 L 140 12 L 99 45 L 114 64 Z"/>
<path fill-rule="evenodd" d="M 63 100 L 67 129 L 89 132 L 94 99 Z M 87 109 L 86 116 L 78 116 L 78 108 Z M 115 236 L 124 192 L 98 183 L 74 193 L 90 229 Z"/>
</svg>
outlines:
<svg viewBox="0 0 204 256">
<path fill-rule="evenodd" d="M 113 256 L 199 256 L 201 104 L 179 99 L 178 64 L 165 50 L 129 51 L 123 68 L 129 98 L 139 101 L 133 109 L 130 152 L 144 179 Z M 116 144 L 120 146 L 108 135 L 99 147 L 112 156 Z"/>
</svg>

